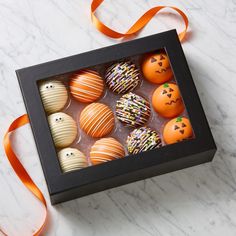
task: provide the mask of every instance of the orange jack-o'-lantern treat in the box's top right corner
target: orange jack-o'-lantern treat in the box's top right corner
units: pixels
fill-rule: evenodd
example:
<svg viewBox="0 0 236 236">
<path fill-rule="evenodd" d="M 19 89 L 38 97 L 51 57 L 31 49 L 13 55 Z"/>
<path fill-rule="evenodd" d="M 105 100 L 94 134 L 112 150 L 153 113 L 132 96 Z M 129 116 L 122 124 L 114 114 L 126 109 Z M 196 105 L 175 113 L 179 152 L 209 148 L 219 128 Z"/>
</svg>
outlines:
<svg viewBox="0 0 236 236">
<path fill-rule="evenodd" d="M 162 84 L 172 78 L 168 56 L 164 52 L 147 55 L 142 63 L 144 77 L 152 83 Z"/>
</svg>

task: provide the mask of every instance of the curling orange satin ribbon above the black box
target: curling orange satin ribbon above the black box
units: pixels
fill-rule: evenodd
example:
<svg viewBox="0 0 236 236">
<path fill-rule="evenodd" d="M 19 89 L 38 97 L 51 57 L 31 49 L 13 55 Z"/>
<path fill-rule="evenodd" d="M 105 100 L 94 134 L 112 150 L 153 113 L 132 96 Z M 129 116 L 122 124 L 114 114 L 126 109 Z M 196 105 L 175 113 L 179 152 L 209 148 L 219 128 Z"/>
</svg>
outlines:
<svg viewBox="0 0 236 236">
<path fill-rule="evenodd" d="M 96 9 L 102 4 L 104 0 L 93 0 L 91 3 L 91 19 L 95 27 L 105 34 L 108 37 L 111 38 L 122 38 L 122 37 L 128 37 L 135 33 L 138 33 L 142 28 L 146 26 L 146 24 L 162 9 L 164 8 L 171 8 L 172 10 L 176 11 L 184 20 L 185 23 L 185 29 L 179 33 L 179 40 L 183 41 L 184 37 L 186 36 L 186 32 L 188 29 L 188 17 L 177 7 L 171 7 L 171 6 L 157 6 L 149 9 L 147 12 L 145 12 L 130 28 L 126 33 L 120 33 L 117 32 L 105 24 L 103 24 L 95 15 Z"/>
</svg>

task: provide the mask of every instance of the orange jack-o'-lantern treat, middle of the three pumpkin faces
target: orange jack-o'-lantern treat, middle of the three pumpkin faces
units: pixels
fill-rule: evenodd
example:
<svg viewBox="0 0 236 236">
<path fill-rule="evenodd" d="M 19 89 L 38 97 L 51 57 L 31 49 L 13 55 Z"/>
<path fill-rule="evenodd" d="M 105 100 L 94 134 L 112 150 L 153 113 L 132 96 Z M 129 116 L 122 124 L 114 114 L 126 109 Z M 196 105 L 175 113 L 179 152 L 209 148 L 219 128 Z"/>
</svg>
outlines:
<svg viewBox="0 0 236 236">
<path fill-rule="evenodd" d="M 179 88 L 174 83 L 159 86 L 152 95 L 152 105 L 159 115 L 166 118 L 173 118 L 184 111 Z"/>
</svg>

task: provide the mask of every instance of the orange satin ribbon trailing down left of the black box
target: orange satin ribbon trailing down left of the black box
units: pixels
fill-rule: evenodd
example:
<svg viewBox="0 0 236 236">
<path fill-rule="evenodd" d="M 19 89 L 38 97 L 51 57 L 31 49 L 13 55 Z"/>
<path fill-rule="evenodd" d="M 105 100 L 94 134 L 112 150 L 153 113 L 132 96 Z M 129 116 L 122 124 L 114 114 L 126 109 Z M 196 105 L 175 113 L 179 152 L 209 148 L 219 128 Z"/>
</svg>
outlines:
<svg viewBox="0 0 236 236">
<path fill-rule="evenodd" d="M 47 219 L 47 204 L 46 204 L 46 200 L 45 200 L 42 192 L 39 190 L 37 185 L 34 183 L 34 181 L 31 179 L 31 177 L 29 176 L 29 174 L 27 173 L 27 171 L 25 170 L 23 165 L 18 160 L 16 154 L 14 153 L 14 151 L 12 149 L 12 144 L 11 144 L 11 139 L 10 139 L 10 134 L 14 130 L 16 130 L 16 129 L 18 129 L 18 128 L 20 128 L 20 127 L 22 127 L 22 126 L 24 126 L 24 125 L 26 125 L 28 123 L 29 123 L 29 119 L 28 119 L 28 116 L 26 114 L 23 115 L 23 116 L 18 117 L 17 119 L 15 119 L 11 123 L 10 127 L 8 128 L 6 134 L 4 135 L 3 145 L 4 145 L 6 156 L 7 156 L 8 160 L 9 160 L 12 168 L 14 169 L 15 173 L 17 174 L 17 176 L 20 178 L 20 180 L 26 186 L 26 188 L 28 188 L 29 191 L 31 193 L 33 193 L 39 199 L 39 201 L 42 202 L 42 204 L 44 205 L 44 207 L 46 209 L 46 214 L 45 214 L 45 218 L 44 218 L 43 224 L 33 234 L 34 236 L 38 236 L 38 235 L 40 235 L 41 231 L 43 230 L 43 227 L 46 224 L 46 219 Z"/>
</svg>

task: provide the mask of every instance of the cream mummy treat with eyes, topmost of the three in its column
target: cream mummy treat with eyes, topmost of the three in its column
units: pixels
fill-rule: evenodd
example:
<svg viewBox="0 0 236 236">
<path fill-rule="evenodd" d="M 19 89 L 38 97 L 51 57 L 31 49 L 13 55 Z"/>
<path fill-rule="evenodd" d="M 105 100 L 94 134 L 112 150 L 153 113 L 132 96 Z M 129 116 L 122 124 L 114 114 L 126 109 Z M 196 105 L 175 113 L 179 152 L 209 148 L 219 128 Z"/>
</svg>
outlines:
<svg viewBox="0 0 236 236">
<path fill-rule="evenodd" d="M 58 112 L 66 105 L 68 100 L 68 92 L 65 85 L 61 81 L 44 81 L 40 83 L 39 91 L 44 109 L 47 113 Z"/>
</svg>

